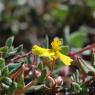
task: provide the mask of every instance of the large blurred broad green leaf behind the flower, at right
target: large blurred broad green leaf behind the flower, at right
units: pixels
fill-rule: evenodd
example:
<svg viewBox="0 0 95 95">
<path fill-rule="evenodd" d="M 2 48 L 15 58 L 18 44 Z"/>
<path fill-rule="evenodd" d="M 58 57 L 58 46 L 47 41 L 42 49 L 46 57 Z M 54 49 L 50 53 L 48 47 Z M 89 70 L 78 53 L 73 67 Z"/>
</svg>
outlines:
<svg viewBox="0 0 95 95">
<path fill-rule="evenodd" d="M 83 46 L 84 39 L 85 39 L 84 32 L 75 32 L 72 33 L 71 36 L 68 38 L 68 43 L 72 47 L 81 48 Z"/>
</svg>

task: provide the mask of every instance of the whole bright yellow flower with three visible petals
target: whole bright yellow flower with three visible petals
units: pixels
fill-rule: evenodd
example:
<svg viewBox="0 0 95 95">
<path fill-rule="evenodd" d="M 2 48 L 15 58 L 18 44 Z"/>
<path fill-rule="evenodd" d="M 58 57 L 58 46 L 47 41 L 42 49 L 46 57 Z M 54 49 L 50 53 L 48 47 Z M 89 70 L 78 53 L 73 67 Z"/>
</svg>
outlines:
<svg viewBox="0 0 95 95">
<path fill-rule="evenodd" d="M 54 38 L 51 43 L 52 48 L 41 48 L 37 45 L 32 47 L 32 53 L 39 56 L 48 57 L 50 60 L 60 59 L 65 65 L 70 65 L 73 61 L 69 56 L 63 55 L 60 50 L 62 48 L 62 41 L 58 38 Z"/>
</svg>

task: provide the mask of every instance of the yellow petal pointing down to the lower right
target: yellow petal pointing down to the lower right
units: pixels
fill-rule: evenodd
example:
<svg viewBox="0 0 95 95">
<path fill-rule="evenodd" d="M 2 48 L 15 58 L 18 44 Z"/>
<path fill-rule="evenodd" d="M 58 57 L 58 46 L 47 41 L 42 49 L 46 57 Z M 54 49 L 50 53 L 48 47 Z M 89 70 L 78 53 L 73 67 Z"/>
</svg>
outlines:
<svg viewBox="0 0 95 95">
<path fill-rule="evenodd" d="M 63 55 L 60 52 L 57 52 L 58 58 L 65 64 L 65 65 L 71 65 L 71 62 L 73 61 L 69 56 Z"/>
</svg>

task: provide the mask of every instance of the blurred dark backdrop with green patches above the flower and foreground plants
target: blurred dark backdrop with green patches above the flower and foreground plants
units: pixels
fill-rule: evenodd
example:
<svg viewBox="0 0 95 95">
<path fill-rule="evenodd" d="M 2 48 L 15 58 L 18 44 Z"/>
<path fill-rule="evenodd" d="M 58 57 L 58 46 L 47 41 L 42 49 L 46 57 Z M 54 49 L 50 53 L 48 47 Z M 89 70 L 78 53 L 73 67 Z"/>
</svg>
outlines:
<svg viewBox="0 0 95 95">
<path fill-rule="evenodd" d="M 95 42 L 95 0 L 0 0 L 0 46 L 45 46 L 54 37 L 80 48 Z"/>
</svg>

